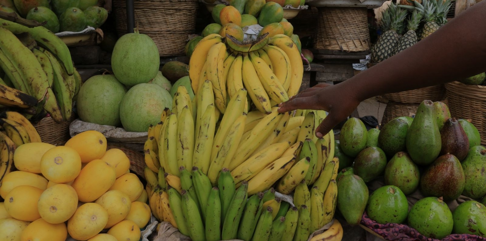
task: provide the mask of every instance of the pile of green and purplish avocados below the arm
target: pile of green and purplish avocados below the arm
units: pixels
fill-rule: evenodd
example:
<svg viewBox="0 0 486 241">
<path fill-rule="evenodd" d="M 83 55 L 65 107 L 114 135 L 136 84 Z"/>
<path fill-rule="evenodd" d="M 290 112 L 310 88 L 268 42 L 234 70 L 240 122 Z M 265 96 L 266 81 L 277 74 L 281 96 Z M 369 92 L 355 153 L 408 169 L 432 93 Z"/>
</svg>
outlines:
<svg viewBox="0 0 486 241">
<path fill-rule="evenodd" d="M 429 238 L 486 237 L 486 148 L 470 120 L 424 100 L 414 118 L 397 117 L 381 129 L 350 118 L 339 139 L 337 207 L 347 223 L 359 224 L 366 211 L 378 223 L 407 224 Z M 367 183 L 383 177 L 384 186 L 369 195 Z M 424 198 L 409 209 L 406 196 L 415 192 Z M 461 194 L 474 200 L 451 211 L 447 203 Z"/>
</svg>

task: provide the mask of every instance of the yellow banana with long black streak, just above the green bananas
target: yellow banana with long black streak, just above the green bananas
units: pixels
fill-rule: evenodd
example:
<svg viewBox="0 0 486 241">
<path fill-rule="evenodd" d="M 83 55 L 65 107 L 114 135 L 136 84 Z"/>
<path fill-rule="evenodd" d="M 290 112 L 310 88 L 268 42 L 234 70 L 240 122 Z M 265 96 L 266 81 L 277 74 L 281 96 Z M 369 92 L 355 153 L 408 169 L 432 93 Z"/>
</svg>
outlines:
<svg viewBox="0 0 486 241">
<path fill-rule="evenodd" d="M 281 157 L 261 170 L 248 181 L 248 195 L 269 189 L 294 164 L 295 155 Z"/>
</svg>

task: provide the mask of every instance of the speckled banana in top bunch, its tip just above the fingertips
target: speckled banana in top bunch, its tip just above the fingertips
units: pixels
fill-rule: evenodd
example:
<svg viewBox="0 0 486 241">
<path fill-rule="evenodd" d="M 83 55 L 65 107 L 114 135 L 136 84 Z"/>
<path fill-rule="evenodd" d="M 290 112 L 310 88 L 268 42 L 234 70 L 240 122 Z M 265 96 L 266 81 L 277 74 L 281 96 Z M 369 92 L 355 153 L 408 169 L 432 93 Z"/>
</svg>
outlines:
<svg viewBox="0 0 486 241">
<path fill-rule="evenodd" d="M 265 61 L 253 54 L 253 52 L 250 53 L 250 60 L 257 71 L 261 85 L 271 100 L 275 101 L 276 104 L 289 100 L 287 91 L 283 88 L 282 83 L 280 83 Z"/>
</svg>

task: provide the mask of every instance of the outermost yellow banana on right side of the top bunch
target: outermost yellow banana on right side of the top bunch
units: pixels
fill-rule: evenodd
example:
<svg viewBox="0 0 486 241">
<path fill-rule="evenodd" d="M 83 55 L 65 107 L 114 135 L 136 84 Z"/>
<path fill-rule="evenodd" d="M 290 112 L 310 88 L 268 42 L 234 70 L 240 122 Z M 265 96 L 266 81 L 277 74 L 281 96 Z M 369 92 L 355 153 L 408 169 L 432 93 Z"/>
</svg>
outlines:
<svg viewBox="0 0 486 241">
<path fill-rule="evenodd" d="M 292 66 L 292 78 L 288 88 L 288 95 L 295 96 L 299 92 L 300 85 L 302 85 L 302 77 L 304 75 L 304 64 L 300 57 L 300 52 L 297 49 L 294 41 L 285 34 L 276 34 L 270 38 L 270 45 L 281 48 L 287 56 L 289 56 L 290 65 Z"/>
</svg>

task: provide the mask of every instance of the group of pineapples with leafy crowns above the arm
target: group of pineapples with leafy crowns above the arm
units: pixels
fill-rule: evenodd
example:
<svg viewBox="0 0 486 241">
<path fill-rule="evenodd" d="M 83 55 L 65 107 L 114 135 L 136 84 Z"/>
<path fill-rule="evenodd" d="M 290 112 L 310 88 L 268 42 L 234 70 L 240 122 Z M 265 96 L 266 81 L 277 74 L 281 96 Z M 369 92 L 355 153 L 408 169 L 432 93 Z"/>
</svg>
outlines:
<svg viewBox="0 0 486 241">
<path fill-rule="evenodd" d="M 371 51 L 372 63 L 411 47 L 447 23 L 451 0 L 407 1 L 410 5 L 391 3 L 382 11 L 382 35 Z"/>
</svg>

